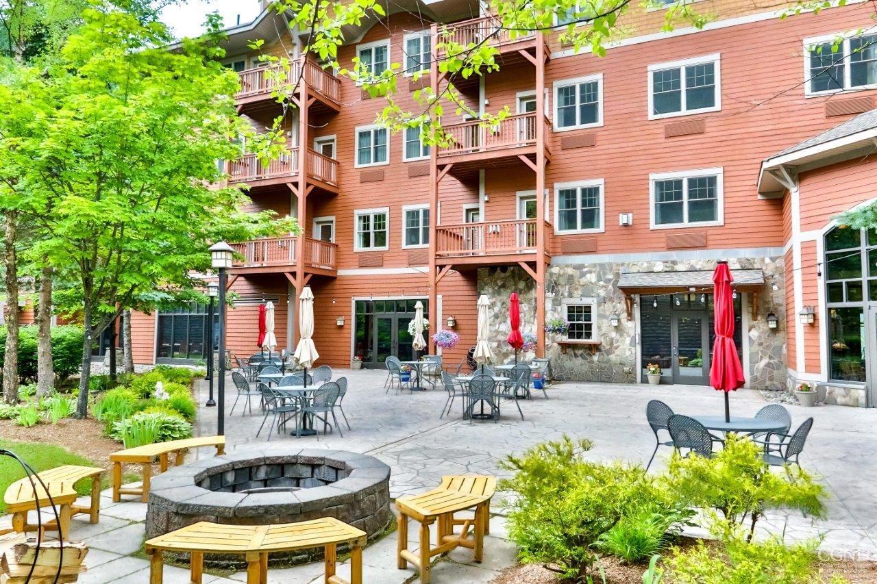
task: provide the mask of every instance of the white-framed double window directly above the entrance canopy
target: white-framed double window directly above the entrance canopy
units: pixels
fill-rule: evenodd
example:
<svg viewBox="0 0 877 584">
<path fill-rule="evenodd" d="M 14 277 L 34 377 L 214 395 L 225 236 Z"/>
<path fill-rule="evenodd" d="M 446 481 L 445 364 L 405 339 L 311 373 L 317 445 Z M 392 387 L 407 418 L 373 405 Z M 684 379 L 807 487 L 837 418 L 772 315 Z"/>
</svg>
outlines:
<svg viewBox="0 0 877 584">
<path fill-rule="evenodd" d="M 724 223 L 722 168 L 649 174 L 652 229 Z"/>
</svg>

